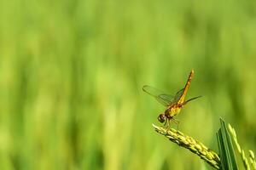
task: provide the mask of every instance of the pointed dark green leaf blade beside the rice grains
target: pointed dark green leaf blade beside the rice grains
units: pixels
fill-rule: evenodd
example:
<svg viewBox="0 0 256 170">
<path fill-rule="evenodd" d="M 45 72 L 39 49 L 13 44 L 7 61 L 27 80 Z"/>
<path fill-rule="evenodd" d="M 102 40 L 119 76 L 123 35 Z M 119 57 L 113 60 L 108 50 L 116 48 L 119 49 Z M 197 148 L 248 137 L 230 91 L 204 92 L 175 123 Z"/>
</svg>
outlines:
<svg viewBox="0 0 256 170">
<path fill-rule="evenodd" d="M 238 169 L 236 163 L 236 156 L 233 149 L 233 144 L 230 139 L 230 133 L 227 130 L 226 123 L 220 118 L 221 127 L 217 132 L 218 150 L 221 161 L 221 169 L 236 170 Z"/>
</svg>

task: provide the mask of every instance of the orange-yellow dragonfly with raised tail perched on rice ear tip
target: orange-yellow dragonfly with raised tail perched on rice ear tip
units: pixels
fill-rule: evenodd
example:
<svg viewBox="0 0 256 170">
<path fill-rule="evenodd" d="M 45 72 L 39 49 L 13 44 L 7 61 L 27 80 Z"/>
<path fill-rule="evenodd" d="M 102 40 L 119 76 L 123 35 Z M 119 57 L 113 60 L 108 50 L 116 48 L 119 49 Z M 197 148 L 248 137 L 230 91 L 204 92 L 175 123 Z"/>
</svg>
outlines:
<svg viewBox="0 0 256 170">
<path fill-rule="evenodd" d="M 169 127 L 171 120 L 173 120 L 178 124 L 177 120 L 174 119 L 174 116 L 176 116 L 181 111 L 183 106 L 186 105 L 189 101 L 201 97 L 201 96 L 197 96 L 195 98 L 185 100 L 185 97 L 186 97 L 186 94 L 188 93 L 189 85 L 193 76 L 194 76 L 194 71 L 192 70 L 189 74 L 189 78 L 185 87 L 179 90 L 177 94 L 175 94 L 174 96 L 169 94 L 163 94 L 160 92 L 160 90 L 150 87 L 148 85 L 143 86 L 144 92 L 146 92 L 147 94 L 150 94 L 155 99 L 157 99 L 160 102 L 160 104 L 165 105 L 167 107 L 166 111 L 164 113 L 161 113 L 158 116 L 159 122 L 162 122 L 162 123 L 165 122 L 164 126 L 166 126 L 167 124 L 167 127 Z"/>
</svg>

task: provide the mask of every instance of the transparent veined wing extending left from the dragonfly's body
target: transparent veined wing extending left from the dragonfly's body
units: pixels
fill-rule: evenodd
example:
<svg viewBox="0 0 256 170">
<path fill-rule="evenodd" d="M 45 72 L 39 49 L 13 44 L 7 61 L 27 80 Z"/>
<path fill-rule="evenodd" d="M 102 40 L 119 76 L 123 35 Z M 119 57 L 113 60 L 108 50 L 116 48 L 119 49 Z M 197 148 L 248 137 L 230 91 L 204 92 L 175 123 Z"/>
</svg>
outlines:
<svg viewBox="0 0 256 170">
<path fill-rule="evenodd" d="M 143 91 L 146 92 L 147 94 L 153 96 L 157 101 L 160 102 L 160 104 L 168 106 L 172 104 L 173 102 L 173 96 L 169 94 L 164 94 L 157 88 L 153 88 L 151 86 L 145 85 L 143 86 Z"/>
</svg>

